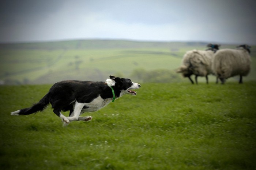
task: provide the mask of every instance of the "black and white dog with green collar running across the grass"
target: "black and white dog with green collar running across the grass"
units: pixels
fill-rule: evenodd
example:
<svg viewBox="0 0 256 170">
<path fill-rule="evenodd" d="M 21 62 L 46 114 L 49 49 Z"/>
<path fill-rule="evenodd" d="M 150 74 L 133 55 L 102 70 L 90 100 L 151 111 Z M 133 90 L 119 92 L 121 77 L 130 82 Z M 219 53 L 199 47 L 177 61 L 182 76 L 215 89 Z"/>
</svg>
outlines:
<svg viewBox="0 0 256 170">
<path fill-rule="evenodd" d="M 105 82 L 91 82 L 78 80 L 65 80 L 55 83 L 49 92 L 36 104 L 11 112 L 11 115 L 29 115 L 43 111 L 48 104 L 52 104 L 53 112 L 61 118 L 64 126 L 70 121 L 90 121 L 91 116 L 80 117 L 84 112 L 93 112 L 105 107 L 124 94 L 136 95 L 134 89 L 140 84 L 130 79 L 109 76 Z M 69 117 L 61 114 L 69 111 Z"/>
</svg>

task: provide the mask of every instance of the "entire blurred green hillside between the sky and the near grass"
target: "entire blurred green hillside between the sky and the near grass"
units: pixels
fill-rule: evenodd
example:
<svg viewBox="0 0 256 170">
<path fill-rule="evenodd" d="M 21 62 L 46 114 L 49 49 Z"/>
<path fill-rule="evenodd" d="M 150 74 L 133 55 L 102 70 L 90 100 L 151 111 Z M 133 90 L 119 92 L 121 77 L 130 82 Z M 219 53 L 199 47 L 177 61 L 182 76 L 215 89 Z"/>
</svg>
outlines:
<svg viewBox="0 0 256 170">
<path fill-rule="evenodd" d="M 208 43 L 211 42 L 72 40 L 0 44 L 0 84 L 52 84 L 67 79 L 103 81 L 109 75 L 142 83 L 188 82 L 175 70 L 186 51 L 205 50 Z M 252 47 L 252 60 L 255 49 Z M 255 80 L 255 74 L 252 62 L 245 81 Z M 205 83 L 205 79 L 200 78 L 199 82 Z"/>
</svg>

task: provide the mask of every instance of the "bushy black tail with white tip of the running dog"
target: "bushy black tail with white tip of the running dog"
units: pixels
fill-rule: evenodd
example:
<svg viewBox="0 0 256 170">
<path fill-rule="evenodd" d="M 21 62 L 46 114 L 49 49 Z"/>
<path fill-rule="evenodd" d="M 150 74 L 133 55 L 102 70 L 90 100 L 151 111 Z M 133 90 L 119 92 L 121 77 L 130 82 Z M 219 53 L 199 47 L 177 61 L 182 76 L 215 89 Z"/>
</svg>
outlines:
<svg viewBox="0 0 256 170">
<path fill-rule="evenodd" d="M 35 103 L 32 107 L 23 108 L 14 112 L 11 115 L 30 115 L 38 111 L 43 111 L 50 103 L 49 94 L 47 93 L 38 103 Z"/>
</svg>

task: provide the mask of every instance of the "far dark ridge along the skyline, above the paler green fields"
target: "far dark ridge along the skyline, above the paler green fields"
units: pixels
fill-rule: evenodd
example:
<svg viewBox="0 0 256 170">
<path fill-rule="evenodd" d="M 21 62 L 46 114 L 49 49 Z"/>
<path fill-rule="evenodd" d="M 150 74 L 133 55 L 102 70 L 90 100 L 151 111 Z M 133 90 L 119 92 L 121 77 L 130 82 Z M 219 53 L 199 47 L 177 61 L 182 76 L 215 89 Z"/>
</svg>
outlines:
<svg viewBox="0 0 256 170">
<path fill-rule="evenodd" d="M 36 50 L 71 50 L 71 49 L 109 49 L 109 48 L 170 48 L 206 46 L 206 42 L 149 42 L 129 40 L 70 40 L 38 43 L 0 44 L 0 49 L 36 49 Z"/>
</svg>

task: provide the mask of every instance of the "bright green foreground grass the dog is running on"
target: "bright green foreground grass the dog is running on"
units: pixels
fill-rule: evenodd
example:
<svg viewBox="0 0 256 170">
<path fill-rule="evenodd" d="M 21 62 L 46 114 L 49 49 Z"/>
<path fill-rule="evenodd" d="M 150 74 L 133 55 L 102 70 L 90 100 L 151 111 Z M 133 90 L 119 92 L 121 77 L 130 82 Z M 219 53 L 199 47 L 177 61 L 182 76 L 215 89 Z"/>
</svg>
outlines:
<svg viewBox="0 0 256 170">
<path fill-rule="evenodd" d="M 256 168 L 256 82 L 144 83 L 67 127 L 50 107 L 10 115 L 49 87 L 0 86 L 0 169 Z"/>
</svg>

